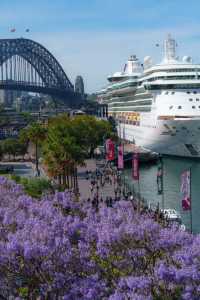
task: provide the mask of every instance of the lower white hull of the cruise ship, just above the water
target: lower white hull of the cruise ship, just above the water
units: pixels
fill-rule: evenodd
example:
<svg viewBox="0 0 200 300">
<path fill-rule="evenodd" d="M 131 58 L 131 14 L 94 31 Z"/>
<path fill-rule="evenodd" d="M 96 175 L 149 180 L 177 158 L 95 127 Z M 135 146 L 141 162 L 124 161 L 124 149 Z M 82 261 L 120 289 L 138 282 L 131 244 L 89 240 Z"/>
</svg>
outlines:
<svg viewBox="0 0 200 300">
<path fill-rule="evenodd" d="M 120 137 L 150 151 L 183 157 L 200 157 L 200 119 L 158 120 L 156 125 L 120 124 Z"/>
</svg>

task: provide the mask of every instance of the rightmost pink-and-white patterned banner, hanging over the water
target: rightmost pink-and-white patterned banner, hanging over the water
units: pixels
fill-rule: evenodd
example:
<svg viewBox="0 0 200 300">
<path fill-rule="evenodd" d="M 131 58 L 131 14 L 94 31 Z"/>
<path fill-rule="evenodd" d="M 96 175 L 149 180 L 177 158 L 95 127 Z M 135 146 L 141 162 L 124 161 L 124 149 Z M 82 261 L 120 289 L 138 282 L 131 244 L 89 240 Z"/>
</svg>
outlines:
<svg viewBox="0 0 200 300">
<path fill-rule="evenodd" d="M 181 196 L 183 210 L 191 210 L 190 170 L 181 174 Z"/>
</svg>

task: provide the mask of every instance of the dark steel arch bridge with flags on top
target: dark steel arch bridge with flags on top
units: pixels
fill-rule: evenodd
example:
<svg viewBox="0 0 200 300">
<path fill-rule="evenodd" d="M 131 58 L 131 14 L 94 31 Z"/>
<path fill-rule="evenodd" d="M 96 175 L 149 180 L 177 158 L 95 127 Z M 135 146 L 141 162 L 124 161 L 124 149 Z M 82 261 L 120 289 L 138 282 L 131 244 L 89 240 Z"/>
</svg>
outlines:
<svg viewBox="0 0 200 300">
<path fill-rule="evenodd" d="M 0 89 L 48 94 L 68 106 L 81 101 L 56 58 L 24 38 L 0 39 Z"/>
</svg>

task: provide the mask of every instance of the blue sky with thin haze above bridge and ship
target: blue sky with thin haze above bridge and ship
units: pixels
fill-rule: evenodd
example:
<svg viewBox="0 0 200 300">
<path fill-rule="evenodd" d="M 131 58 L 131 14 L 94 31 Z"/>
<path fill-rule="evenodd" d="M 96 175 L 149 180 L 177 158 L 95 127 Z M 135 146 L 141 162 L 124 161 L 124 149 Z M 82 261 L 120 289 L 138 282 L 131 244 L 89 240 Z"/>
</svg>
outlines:
<svg viewBox="0 0 200 300">
<path fill-rule="evenodd" d="M 200 62 L 199 11 L 197 0 L 1 0 L 0 37 L 40 42 L 72 82 L 83 75 L 86 91 L 92 92 L 131 54 L 158 62 L 162 47 L 155 44 L 168 33 L 177 39 L 179 56 Z"/>
</svg>

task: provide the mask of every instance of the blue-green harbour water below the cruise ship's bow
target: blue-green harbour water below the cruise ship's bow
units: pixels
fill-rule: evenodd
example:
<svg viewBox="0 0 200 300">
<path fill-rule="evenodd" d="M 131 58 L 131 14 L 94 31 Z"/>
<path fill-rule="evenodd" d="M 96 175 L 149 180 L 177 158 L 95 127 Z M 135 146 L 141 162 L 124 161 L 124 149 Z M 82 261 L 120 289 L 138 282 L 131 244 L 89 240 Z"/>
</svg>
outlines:
<svg viewBox="0 0 200 300">
<path fill-rule="evenodd" d="M 190 229 L 190 211 L 183 211 L 181 207 L 180 176 L 184 170 L 191 168 L 191 195 L 192 195 L 192 229 L 200 233 L 200 160 L 163 157 L 164 207 L 176 209 L 182 217 L 183 224 Z M 162 195 L 158 195 L 156 164 L 140 165 L 140 193 L 145 200 L 154 207 L 162 208 Z M 131 178 L 131 169 L 125 170 L 125 179 L 129 186 L 134 186 L 138 192 L 138 183 Z"/>
</svg>

